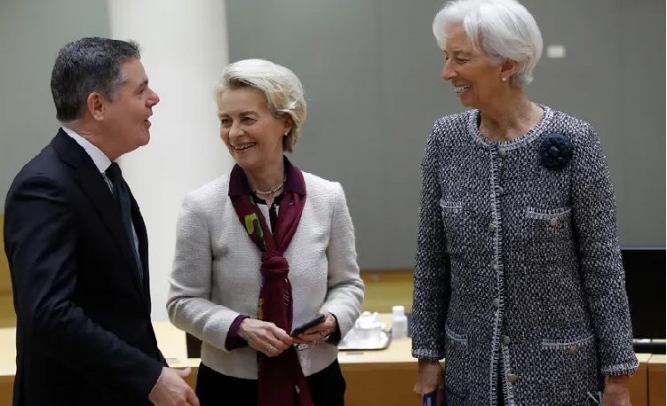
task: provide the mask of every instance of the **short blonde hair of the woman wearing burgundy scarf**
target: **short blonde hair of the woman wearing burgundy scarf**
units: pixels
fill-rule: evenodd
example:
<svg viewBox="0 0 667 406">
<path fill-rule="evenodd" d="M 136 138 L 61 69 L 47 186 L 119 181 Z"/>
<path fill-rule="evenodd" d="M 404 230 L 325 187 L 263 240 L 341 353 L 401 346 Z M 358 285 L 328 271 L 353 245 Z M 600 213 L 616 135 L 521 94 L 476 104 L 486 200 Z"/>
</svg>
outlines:
<svg viewBox="0 0 667 406">
<path fill-rule="evenodd" d="M 266 59 L 243 59 L 225 67 L 214 87 L 218 110 L 225 90 L 251 87 L 261 91 L 266 106 L 275 117 L 285 114 L 292 119 L 292 128 L 282 138 L 282 151 L 292 152 L 306 121 L 306 99 L 301 81 L 285 66 Z"/>
</svg>

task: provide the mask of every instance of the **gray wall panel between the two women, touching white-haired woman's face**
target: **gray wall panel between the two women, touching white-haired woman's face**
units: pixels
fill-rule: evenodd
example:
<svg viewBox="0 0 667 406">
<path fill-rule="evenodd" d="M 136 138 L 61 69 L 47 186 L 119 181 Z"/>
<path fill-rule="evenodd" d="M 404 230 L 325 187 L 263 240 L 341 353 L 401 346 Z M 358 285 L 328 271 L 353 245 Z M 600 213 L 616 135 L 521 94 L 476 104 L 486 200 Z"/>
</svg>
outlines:
<svg viewBox="0 0 667 406">
<path fill-rule="evenodd" d="M 417 243 L 421 160 L 433 121 L 462 111 L 442 82 L 443 53 L 433 39 L 433 15 L 441 1 L 377 1 L 384 199 L 387 246 L 369 267 L 410 268 Z"/>
</svg>

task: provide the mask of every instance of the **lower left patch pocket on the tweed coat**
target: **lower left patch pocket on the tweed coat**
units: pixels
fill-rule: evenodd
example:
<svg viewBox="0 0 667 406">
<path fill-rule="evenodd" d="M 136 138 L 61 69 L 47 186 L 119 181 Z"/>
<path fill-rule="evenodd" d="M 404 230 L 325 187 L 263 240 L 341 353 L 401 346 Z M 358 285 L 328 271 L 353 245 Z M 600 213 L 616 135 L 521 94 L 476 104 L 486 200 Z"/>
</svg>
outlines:
<svg viewBox="0 0 667 406">
<path fill-rule="evenodd" d="M 468 395 L 468 337 L 457 334 L 445 326 L 445 386 L 451 396 L 465 398 Z"/>
</svg>

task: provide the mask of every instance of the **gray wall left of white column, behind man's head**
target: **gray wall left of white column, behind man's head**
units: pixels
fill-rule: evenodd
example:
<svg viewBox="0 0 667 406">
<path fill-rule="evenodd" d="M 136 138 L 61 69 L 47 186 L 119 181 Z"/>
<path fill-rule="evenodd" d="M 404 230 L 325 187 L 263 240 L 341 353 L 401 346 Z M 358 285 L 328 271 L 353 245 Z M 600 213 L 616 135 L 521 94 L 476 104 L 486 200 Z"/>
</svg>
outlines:
<svg viewBox="0 0 667 406">
<path fill-rule="evenodd" d="M 3 205 L 13 177 L 58 129 L 50 88 L 58 50 L 81 36 L 108 36 L 109 30 L 106 0 L 0 0 Z"/>
</svg>

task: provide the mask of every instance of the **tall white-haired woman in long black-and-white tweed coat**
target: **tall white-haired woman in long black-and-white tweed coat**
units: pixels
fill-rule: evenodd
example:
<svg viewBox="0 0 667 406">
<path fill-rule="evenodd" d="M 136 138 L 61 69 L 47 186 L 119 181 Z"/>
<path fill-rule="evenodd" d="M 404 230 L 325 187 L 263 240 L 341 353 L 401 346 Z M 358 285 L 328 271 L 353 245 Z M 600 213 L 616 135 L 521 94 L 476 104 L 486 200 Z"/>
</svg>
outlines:
<svg viewBox="0 0 667 406">
<path fill-rule="evenodd" d="M 441 391 L 444 358 L 450 406 L 629 405 L 639 363 L 600 138 L 524 94 L 542 37 L 516 1 L 450 2 L 433 33 L 472 110 L 425 148 L 415 391 Z"/>
</svg>

